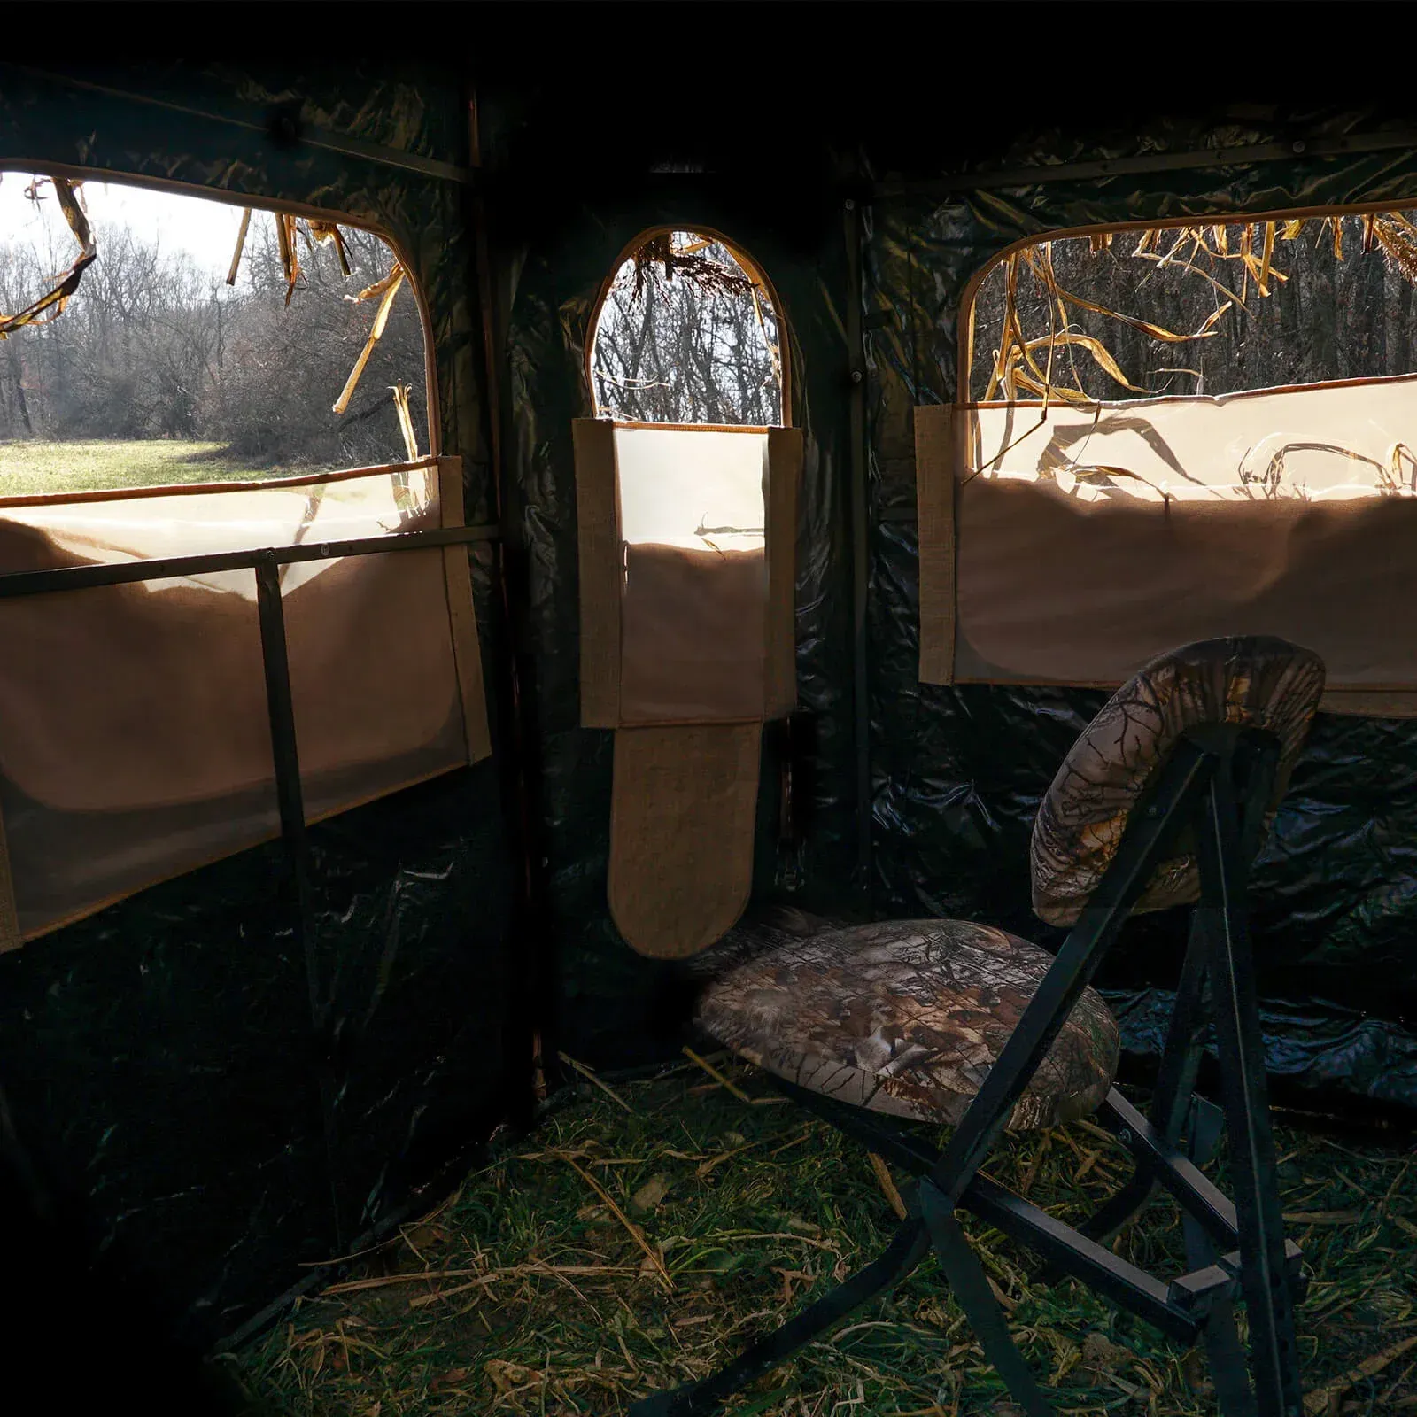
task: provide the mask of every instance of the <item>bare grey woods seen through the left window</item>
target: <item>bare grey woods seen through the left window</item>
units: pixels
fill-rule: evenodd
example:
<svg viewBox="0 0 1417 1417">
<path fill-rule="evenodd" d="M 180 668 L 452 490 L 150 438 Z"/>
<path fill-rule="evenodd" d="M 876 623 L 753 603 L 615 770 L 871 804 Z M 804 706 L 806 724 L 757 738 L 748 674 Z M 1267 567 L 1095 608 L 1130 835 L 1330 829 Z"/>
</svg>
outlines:
<svg viewBox="0 0 1417 1417">
<path fill-rule="evenodd" d="M 227 444 L 254 468 L 401 461 L 391 385 L 402 384 L 427 451 L 424 336 L 408 289 L 394 299 L 349 408 L 333 412 L 378 307 L 347 298 L 394 262 L 378 237 L 340 232 L 347 276 L 333 242 L 298 234 L 300 278 L 286 306 L 269 213 L 252 213 L 234 286 L 186 252 L 95 221 L 98 258 L 62 316 L 0 340 L 0 439 L 201 439 Z M 0 232 L 0 312 L 52 283 L 74 258 L 68 239 Z M 232 252 L 213 255 L 225 262 Z"/>
</svg>

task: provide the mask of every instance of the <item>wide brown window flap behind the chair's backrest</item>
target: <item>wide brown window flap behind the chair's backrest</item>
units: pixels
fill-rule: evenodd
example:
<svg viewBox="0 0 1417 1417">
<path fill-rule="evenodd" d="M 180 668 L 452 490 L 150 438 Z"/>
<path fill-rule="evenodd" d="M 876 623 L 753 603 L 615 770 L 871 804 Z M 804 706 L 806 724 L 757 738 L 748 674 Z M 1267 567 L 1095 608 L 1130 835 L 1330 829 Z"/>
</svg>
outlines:
<svg viewBox="0 0 1417 1417">
<path fill-rule="evenodd" d="M 1115 687 L 1277 635 L 1323 707 L 1417 714 L 1417 380 L 917 408 L 921 679 Z"/>
</svg>

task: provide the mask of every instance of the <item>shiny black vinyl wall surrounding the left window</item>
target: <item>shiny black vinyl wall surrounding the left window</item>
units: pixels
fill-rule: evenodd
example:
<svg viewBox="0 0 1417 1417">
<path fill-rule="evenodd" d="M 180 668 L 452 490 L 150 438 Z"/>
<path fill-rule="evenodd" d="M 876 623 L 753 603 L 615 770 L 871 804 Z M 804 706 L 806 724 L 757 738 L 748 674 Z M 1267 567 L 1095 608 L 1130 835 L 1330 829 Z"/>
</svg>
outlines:
<svg viewBox="0 0 1417 1417">
<path fill-rule="evenodd" d="M 288 68 L 3 68 L 0 166 L 286 204 L 387 234 L 425 307 L 434 422 L 463 458 L 468 521 L 493 520 L 466 187 L 398 166 L 400 153 L 466 166 L 459 82 L 429 65 Z M 384 145 L 394 162 L 322 135 Z M 469 557 L 500 758 L 495 551 Z M 103 1263 L 140 1277 L 188 1340 L 232 1333 L 303 1264 L 397 1221 L 530 1087 L 504 802 L 486 761 L 313 826 L 313 969 L 281 843 L 0 956 L 16 1134 Z"/>
</svg>

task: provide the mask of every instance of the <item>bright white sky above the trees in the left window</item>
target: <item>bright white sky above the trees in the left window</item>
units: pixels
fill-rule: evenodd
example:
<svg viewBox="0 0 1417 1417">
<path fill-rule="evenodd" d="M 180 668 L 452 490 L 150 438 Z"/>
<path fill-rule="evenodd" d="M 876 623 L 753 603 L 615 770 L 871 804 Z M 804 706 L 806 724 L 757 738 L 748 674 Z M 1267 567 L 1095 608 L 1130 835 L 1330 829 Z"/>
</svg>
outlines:
<svg viewBox="0 0 1417 1417">
<path fill-rule="evenodd" d="M 0 173 L 0 242 L 40 237 L 50 228 L 65 264 L 77 252 L 52 187 L 41 187 L 45 200 L 24 196 L 30 173 Z M 174 197 L 163 191 L 119 183 L 86 181 L 82 187 L 89 221 L 95 225 L 128 225 L 135 235 L 156 241 L 163 251 L 186 251 L 203 271 L 225 276 L 237 247 L 241 208 L 203 197 Z M 256 221 L 269 215 L 256 213 Z"/>
</svg>

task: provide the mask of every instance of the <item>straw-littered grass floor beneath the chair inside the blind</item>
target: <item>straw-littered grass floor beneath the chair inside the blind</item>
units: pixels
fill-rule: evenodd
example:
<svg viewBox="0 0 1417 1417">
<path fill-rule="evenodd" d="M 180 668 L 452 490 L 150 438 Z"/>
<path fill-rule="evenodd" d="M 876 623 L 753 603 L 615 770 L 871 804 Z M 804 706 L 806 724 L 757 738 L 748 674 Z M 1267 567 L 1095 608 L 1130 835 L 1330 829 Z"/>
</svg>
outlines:
<svg viewBox="0 0 1417 1417">
<path fill-rule="evenodd" d="M 886 1243 L 894 1212 L 857 1144 L 751 1068 L 584 1083 L 349 1278 L 237 1362 L 289 1417 L 615 1414 L 713 1370 Z M 988 1168 L 1078 1220 L 1122 1176 L 1081 1122 L 1013 1138 Z M 1410 1144 L 1280 1128 L 1289 1233 L 1314 1282 L 1299 1311 L 1306 1413 L 1417 1413 L 1417 1166 Z M 888 1175 L 888 1173 L 887 1173 Z M 904 1178 L 896 1178 L 904 1183 Z M 1073 1417 L 1214 1411 L 1199 1353 L 1118 1315 L 978 1221 L 1034 1372 Z M 1180 1227 L 1153 1202 L 1117 1241 L 1166 1268 Z M 1357 1376 L 1355 1376 L 1357 1373 Z M 735 1417 L 1017 1417 L 927 1260 L 755 1390 Z"/>
</svg>

